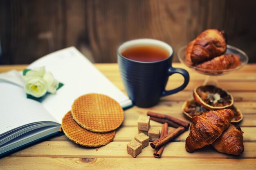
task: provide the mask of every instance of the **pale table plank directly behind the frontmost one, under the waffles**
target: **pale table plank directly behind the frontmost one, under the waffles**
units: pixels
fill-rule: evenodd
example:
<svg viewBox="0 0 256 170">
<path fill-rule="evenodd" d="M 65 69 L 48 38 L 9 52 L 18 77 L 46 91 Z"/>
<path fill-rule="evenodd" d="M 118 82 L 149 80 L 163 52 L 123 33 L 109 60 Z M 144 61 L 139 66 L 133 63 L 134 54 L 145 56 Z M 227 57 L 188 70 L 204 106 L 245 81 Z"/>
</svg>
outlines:
<svg viewBox="0 0 256 170">
<path fill-rule="evenodd" d="M 100 148 L 86 148 L 71 141 L 46 141 L 11 154 L 23 157 L 109 157 L 131 158 L 126 152 L 128 142 L 110 142 Z M 244 142 L 245 152 L 241 159 L 256 159 L 256 142 Z M 63 149 L 65 148 L 65 149 Z M 150 146 L 143 149 L 137 158 L 152 158 L 154 149 Z M 169 142 L 166 144 L 161 158 L 235 158 L 232 155 L 218 153 L 212 146 L 205 146 L 193 153 L 186 152 L 184 142 Z"/>
</svg>

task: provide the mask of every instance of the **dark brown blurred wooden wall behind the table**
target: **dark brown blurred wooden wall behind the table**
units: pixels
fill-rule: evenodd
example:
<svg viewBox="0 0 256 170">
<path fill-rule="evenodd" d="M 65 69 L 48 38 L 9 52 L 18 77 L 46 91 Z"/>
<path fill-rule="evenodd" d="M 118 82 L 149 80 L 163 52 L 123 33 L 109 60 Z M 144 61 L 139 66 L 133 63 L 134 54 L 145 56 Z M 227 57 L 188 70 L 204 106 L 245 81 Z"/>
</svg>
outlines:
<svg viewBox="0 0 256 170">
<path fill-rule="evenodd" d="M 228 44 L 256 62 L 256 0 L 0 0 L 0 64 L 31 63 L 68 46 L 112 63 L 118 44 L 141 37 L 177 52 L 207 28 L 225 30 Z"/>
</svg>

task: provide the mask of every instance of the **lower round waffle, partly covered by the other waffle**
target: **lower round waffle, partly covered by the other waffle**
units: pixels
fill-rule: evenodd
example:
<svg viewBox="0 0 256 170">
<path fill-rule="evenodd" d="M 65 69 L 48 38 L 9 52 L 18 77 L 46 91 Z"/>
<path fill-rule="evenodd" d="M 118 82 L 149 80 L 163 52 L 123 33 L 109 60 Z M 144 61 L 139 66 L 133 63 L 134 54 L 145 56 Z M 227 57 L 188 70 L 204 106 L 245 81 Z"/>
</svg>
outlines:
<svg viewBox="0 0 256 170">
<path fill-rule="evenodd" d="M 83 129 L 72 118 L 71 111 L 67 112 L 62 119 L 62 130 L 65 135 L 76 144 L 98 147 L 111 142 L 115 136 L 115 131 L 108 133 L 94 133 Z"/>
</svg>

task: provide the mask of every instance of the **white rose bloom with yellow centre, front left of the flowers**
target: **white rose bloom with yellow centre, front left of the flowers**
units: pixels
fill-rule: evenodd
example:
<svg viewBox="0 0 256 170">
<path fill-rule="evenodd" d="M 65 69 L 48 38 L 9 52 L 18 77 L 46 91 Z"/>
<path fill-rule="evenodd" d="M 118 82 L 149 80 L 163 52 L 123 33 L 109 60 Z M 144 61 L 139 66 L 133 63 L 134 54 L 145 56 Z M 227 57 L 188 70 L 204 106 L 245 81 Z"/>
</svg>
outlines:
<svg viewBox="0 0 256 170">
<path fill-rule="evenodd" d="M 38 76 L 31 76 L 26 79 L 25 91 L 34 97 L 42 97 L 47 92 L 47 82 Z"/>
</svg>

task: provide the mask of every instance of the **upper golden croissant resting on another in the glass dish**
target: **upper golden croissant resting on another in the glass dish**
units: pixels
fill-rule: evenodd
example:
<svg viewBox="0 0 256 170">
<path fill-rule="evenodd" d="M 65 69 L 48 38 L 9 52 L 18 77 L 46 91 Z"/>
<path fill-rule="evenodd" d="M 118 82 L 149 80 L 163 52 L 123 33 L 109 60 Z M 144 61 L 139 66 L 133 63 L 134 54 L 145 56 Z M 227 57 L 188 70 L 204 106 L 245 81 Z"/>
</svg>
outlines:
<svg viewBox="0 0 256 170">
<path fill-rule="evenodd" d="M 198 64 L 220 56 L 226 50 L 227 42 L 224 31 L 208 29 L 196 37 L 191 51 L 191 61 L 193 64 Z"/>
</svg>

